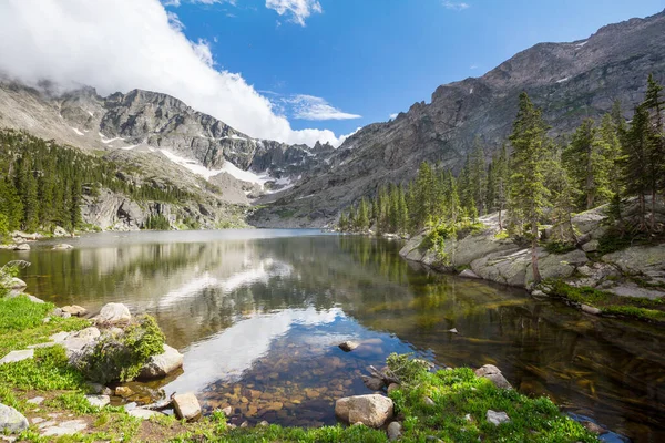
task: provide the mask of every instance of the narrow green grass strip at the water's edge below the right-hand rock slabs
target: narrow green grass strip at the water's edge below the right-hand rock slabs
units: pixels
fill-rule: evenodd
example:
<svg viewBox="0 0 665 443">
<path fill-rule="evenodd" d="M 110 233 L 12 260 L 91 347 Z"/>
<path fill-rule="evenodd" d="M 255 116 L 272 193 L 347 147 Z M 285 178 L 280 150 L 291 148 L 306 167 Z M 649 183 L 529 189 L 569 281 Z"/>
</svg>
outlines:
<svg viewBox="0 0 665 443">
<path fill-rule="evenodd" d="M 665 322 L 665 299 L 615 296 L 590 287 L 575 288 L 564 281 L 548 282 L 553 295 L 598 308 L 603 313 Z"/>
</svg>

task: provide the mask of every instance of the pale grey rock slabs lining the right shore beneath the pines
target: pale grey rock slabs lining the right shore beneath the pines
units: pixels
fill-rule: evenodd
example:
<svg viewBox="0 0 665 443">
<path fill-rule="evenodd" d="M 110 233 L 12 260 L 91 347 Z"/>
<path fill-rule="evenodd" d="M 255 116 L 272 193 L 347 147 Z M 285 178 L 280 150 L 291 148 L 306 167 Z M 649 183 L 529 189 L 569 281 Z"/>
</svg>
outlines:
<svg viewBox="0 0 665 443">
<path fill-rule="evenodd" d="M 633 210 L 631 205 L 625 209 L 628 216 Z M 524 288 L 536 297 L 564 296 L 551 284 L 561 281 L 572 288 L 593 289 L 620 300 L 638 298 L 659 302 L 665 297 L 665 243 L 604 253 L 601 241 L 611 227 L 605 212 L 602 206 L 572 218 L 579 233 L 572 250 L 556 254 L 545 246 L 539 247 L 539 269 L 544 281 L 539 286 L 533 284 L 531 249 L 500 234 L 498 214 L 480 218 L 484 226 L 480 233 L 447 239 L 444 259 L 440 253 L 421 246 L 427 230 L 411 237 L 399 254 L 437 271 Z M 663 205 L 658 206 L 657 219 L 665 222 Z M 552 229 L 544 229 L 544 238 L 552 235 Z M 603 315 L 601 309 L 579 300 L 569 301 L 587 313 Z"/>
</svg>

